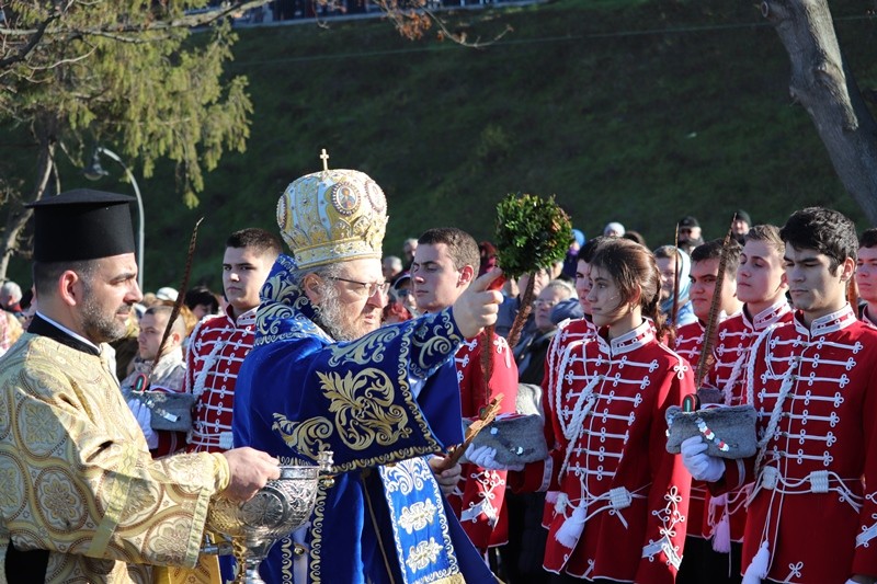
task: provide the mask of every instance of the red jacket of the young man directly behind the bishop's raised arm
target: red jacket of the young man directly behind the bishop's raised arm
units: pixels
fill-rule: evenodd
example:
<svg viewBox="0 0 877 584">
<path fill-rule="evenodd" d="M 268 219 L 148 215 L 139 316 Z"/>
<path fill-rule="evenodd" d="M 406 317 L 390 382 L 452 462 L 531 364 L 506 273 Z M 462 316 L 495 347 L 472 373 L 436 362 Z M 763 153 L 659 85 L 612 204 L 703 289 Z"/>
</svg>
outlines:
<svg viewBox="0 0 877 584">
<path fill-rule="evenodd" d="M 486 342 L 487 335 L 481 333 L 465 341 L 455 356 L 464 417 L 477 417 L 480 409 L 498 393 L 503 394 L 500 413 L 515 412 L 517 365 L 509 343 L 499 334 L 493 335 L 493 346 L 490 348 L 493 371 L 490 377 L 490 398 L 486 397 L 487 388 L 481 371 L 481 352 Z M 463 465 L 463 479 L 456 492 L 447 497 L 463 529 L 482 552 L 509 541 L 505 474 L 506 471 Z"/>
</svg>

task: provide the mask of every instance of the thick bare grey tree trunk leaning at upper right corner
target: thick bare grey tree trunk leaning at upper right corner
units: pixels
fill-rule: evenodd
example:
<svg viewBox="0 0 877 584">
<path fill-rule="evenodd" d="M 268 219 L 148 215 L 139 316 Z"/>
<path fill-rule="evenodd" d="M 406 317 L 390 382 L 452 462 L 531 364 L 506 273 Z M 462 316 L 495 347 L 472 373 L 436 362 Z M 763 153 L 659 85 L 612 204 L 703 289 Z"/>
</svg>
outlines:
<svg viewBox="0 0 877 584">
<path fill-rule="evenodd" d="M 838 45 L 827 0 L 764 0 L 791 61 L 791 98 L 810 114 L 834 171 L 877 225 L 877 123 Z"/>
</svg>

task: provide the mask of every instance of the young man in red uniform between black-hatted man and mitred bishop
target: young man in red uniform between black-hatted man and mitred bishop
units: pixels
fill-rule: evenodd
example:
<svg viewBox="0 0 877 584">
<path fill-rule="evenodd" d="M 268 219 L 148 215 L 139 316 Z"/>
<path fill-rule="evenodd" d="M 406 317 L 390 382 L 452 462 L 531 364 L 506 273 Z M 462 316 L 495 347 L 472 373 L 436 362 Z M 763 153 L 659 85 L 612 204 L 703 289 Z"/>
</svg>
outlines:
<svg viewBox="0 0 877 584">
<path fill-rule="evenodd" d="M 235 381 L 255 339 L 259 290 L 281 251 L 280 240 L 263 229 L 241 229 L 226 241 L 223 288 L 228 308 L 202 320 L 189 343 L 186 391 L 197 399 L 190 453 L 221 453 L 232 446 Z"/>
</svg>

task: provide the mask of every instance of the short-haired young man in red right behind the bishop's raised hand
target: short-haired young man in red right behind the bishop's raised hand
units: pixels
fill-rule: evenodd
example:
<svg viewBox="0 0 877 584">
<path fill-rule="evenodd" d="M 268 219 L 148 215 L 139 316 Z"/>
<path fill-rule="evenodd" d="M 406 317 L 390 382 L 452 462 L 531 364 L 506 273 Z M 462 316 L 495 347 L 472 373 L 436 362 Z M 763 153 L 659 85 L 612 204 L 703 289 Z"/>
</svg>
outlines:
<svg viewBox="0 0 877 584">
<path fill-rule="evenodd" d="M 452 306 L 478 275 L 480 254 L 471 236 L 456 228 L 430 229 L 418 239 L 411 277 L 414 300 L 421 312 L 438 312 Z M 517 397 L 517 366 L 505 339 L 493 335 L 487 346 L 481 333 L 464 341 L 455 356 L 462 396 L 463 415 L 477 417 L 479 410 L 502 393 L 501 413 L 514 413 Z M 492 375 L 485 382 L 481 354 L 490 352 Z M 504 513 L 505 472 L 463 466 L 463 480 L 457 492 L 448 496 L 466 534 L 476 548 L 488 548 L 508 540 Z"/>
</svg>

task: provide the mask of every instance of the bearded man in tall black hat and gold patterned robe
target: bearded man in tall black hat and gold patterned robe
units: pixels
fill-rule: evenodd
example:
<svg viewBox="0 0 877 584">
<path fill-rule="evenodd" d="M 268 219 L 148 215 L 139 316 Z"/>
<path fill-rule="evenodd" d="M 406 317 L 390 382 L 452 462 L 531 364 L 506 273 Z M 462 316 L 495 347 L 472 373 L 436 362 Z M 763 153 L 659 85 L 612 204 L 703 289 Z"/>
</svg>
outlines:
<svg viewBox="0 0 877 584">
<path fill-rule="evenodd" d="M 111 371 L 137 286 L 130 197 L 34 203 L 39 308 L 0 359 L 0 582 L 151 582 L 198 560 L 207 505 L 280 476 L 251 448 L 152 460 Z"/>
</svg>

